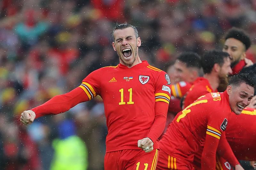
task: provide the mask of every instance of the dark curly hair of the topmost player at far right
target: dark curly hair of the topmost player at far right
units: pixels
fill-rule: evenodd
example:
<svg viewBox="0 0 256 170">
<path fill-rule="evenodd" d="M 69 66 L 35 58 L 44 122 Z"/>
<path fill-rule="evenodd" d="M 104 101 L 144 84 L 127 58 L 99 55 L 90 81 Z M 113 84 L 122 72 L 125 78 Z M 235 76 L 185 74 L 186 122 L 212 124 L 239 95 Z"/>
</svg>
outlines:
<svg viewBox="0 0 256 170">
<path fill-rule="evenodd" d="M 228 38 L 235 38 L 236 40 L 241 41 L 244 44 L 246 50 L 251 46 L 251 40 L 249 36 L 242 29 L 233 27 L 226 34 L 225 40 Z"/>
</svg>

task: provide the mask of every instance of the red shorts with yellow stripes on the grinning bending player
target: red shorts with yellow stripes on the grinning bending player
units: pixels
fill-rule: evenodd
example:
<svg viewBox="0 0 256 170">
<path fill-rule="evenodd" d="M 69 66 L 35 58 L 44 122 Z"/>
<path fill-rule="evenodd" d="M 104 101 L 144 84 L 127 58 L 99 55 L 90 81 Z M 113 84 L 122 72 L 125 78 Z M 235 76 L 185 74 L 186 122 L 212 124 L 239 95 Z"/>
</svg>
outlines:
<svg viewBox="0 0 256 170">
<path fill-rule="evenodd" d="M 165 170 L 165 169 L 177 169 L 177 170 L 192 170 L 194 169 L 193 165 L 188 161 L 175 158 L 162 150 L 159 151 L 158 163 L 156 166 L 157 170 Z"/>
</svg>

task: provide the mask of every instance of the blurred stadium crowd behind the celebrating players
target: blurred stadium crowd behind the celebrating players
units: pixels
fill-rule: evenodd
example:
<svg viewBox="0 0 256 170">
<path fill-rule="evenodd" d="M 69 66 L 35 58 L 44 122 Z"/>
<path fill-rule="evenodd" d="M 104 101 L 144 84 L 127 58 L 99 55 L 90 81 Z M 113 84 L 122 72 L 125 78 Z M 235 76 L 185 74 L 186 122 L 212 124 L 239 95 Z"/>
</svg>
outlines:
<svg viewBox="0 0 256 170">
<path fill-rule="evenodd" d="M 111 46 L 117 22 L 136 26 L 140 57 L 166 70 L 181 52 L 222 49 L 223 35 L 233 26 L 249 34 L 247 58 L 255 63 L 255 21 L 256 0 L 0 1 L 1 169 L 58 169 L 56 141 L 74 135 L 84 141 L 72 146 L 88 154 L 80 155 L 83 164 L 103 169 L 107 129 L 100 98 L 28 127 L 19 116 L 74 89 L 93 70 L 117 65 Z M 63 160 L 70 169 L 72 160 Z"/>
</svg>

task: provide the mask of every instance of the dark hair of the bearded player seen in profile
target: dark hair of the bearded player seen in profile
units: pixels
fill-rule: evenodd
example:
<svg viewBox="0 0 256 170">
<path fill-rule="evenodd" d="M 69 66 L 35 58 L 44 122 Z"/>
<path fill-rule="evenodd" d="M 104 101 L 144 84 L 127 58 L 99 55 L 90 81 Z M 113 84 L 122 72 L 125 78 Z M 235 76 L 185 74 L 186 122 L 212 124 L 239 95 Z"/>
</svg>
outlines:
<svg viewBox="0 0 256 170">
<path fill-rule="evenodd" d="M 201 64 L 204 70 L 204 74 L 212 72 L 212 68 L 215 63 L 220 66 L 224 63 L 224 58 L 228 58 L 229 54 L 220 50 L 209 50 L 205 51 L 202 56 Z"/>
</svg>

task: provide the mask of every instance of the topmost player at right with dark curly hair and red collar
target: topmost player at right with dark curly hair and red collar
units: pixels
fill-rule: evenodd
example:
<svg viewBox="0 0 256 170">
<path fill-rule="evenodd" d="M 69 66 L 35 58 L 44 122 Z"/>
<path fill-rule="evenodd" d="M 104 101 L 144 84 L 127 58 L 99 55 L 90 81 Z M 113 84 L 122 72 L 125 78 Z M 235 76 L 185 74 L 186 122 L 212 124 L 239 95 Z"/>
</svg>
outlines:
<svg viewBox="0 0 256 170">
<path fill-rule="evenodd" d="M 232 28 L 225 36 L 225 44 L 222 51 L 227 52 L 231 58 L 233 75 L 238 74 L 244 67 L 252 65 L 252 61 L 246 58 L 246 51 L 251 46 L 249 36 L 241 29 Z"/>
</svg>

